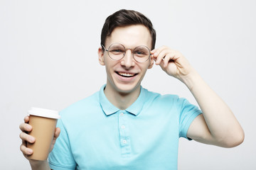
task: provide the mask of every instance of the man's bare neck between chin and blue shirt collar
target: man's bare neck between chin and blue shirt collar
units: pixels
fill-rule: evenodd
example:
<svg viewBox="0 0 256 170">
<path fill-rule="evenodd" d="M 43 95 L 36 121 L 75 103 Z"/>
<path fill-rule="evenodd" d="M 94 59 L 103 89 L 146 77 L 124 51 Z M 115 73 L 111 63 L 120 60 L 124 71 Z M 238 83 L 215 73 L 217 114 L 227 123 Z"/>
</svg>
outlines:
<svg viewBox="0 0 256 170">
<path fill-rule="evenodd" d="M 139 97 L 140 86 L 137 86 L 133 91 L 123 92 L 117 91 L 110 84 L 107 84 L 104 93 L 110 103 L 121 110 L 125 110 Z"/>
</svg>

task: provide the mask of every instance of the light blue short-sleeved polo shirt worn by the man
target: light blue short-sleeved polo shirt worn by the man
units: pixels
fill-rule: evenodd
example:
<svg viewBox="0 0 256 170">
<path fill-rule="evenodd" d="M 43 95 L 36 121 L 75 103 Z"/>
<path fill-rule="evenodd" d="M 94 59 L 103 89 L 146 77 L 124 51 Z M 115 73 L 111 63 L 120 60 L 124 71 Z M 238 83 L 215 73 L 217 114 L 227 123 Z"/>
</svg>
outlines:
<svg viewBox="0 0 256 170">
<path fill-rule="evenodd" d="M 50 168 L 177 169 L 178 139 L 201 114 L 198 107 L 141 87 L 137 101 L 122 111 L 107 100 L 104 89 L 60 112 Z"/>
</svg>

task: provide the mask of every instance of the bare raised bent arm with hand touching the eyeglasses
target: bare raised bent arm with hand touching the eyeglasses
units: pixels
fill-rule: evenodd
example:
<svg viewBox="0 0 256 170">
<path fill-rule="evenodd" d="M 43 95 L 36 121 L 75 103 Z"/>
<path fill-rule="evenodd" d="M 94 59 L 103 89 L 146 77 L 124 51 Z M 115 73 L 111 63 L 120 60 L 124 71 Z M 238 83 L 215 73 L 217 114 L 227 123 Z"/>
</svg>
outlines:
<svg viewBox="0 0 256 170">
<path fill-rule="evenodd" d="M 220 147 L 235 147 L 244 140 L 244 132 L 225 102 L 210 89 L 180 52 L 169 47 L 151 51 L 156 64 L 167 74 L 182 81 L 203 111 L 188 129 L 187 136 L 198 142 Z"/>
</svg>

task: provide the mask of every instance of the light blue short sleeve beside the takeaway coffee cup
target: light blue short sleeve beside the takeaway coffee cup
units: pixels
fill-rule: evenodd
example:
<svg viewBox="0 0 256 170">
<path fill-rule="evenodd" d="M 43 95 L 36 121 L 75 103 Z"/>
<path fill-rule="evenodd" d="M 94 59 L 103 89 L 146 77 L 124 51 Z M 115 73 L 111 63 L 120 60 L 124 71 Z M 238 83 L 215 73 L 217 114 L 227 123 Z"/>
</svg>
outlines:
<svg viewBox="0 0 256 170">
<path fill-rule="evenodd" d="M 76 163 L 71 152 L 68 133 L 61 119 L 58 120 L 57 127 L 60 128 L 60 136 L 55 142 L 53 151 L 50 152 L 48 162 L 50 169 L 70 170 L 75 169 Z"/>
</svg>

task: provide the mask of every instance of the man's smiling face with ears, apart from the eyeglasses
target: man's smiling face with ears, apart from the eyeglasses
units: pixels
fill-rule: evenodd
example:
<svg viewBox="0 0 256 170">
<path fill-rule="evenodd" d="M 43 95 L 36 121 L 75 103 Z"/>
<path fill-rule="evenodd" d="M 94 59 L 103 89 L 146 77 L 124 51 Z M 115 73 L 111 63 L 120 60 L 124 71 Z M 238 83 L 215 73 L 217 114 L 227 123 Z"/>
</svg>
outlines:
<svg viewBox="0 0 256 170">
<path fill-rule="evenodd" d="M 149 30 L 142 25 L 133 25 L 114 28 L 110 37 L 106 39 L 105 48 L 119 42 L 124 47 L 134 49 L 139 45 L 145 45 L 151 49 L 151 35 Z M 100 64 L 105 65 L 107 72 L 106 89 L 112 92 L 129 94 L 139 90 L 146 70 L 151 68 L 154 61 L 150 58 L 146 62 L 137 62 L 132 57 L 132 50 L 127 50 L 121 60 L 112 60 L 107 51 L 98 50 Z"/>
</svg>

